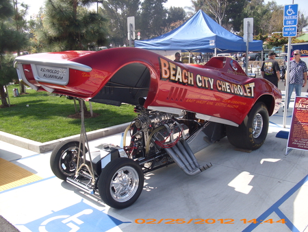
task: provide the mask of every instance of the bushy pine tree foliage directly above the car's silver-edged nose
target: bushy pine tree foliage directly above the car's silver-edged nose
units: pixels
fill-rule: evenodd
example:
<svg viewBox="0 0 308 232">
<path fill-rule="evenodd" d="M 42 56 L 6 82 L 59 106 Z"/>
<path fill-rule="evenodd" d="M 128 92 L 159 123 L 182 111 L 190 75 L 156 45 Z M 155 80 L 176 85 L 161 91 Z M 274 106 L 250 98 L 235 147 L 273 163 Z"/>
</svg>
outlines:
<svg viewBox="0 0 308 232">
<path fill-rule="evenodd" d="M 89 12 L 92 0 L 47 0 L 38 38 L 49 51 L 86 50 L 90 43 L 105 45 L 105 18 Z"/>
</svg>

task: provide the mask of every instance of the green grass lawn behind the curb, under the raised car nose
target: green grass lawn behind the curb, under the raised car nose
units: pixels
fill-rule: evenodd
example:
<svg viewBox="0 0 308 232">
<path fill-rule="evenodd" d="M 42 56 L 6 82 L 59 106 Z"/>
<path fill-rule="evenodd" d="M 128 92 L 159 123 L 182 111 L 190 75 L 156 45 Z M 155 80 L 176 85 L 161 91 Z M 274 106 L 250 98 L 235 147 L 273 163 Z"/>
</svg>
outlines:
<svg viewBox="0 0 308 232">
<path fill-rule="evenodd" d="M 19 92 L 19 85 L 8 86 L 11 107 L 0 108 L 1 131 L 41 143 L 80 134 L 81 119 L 68 117 L 75 114 L 73 100 L 32 89 L 27 89 L 25 95 L 14 97 L 14 88 Z M 86 106 L 90 111 L 88 102 Z M 132 121 L 136 116 L 133 107 L 127 104 L 118 107 L 92 102 L 93 113 L 99 116 L 84 120 L 86 131 Z M 79 111 L 78 102 L 77 111 Z"/>
</svg>

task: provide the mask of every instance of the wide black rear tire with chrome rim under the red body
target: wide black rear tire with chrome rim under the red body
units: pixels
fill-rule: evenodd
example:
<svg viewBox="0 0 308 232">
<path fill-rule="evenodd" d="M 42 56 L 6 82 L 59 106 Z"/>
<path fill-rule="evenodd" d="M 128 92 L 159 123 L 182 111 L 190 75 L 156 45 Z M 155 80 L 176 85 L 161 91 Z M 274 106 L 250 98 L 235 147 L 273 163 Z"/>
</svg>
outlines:
<svg viewBox="0 0 308 232">
<path fill-rule="evenodd" d="M 227 126 L 228 140 L 237 148 L 257 150 L 268 135 L 269 122 L 266 105 L 257 102 L 240 126 Z"/>
</svg>

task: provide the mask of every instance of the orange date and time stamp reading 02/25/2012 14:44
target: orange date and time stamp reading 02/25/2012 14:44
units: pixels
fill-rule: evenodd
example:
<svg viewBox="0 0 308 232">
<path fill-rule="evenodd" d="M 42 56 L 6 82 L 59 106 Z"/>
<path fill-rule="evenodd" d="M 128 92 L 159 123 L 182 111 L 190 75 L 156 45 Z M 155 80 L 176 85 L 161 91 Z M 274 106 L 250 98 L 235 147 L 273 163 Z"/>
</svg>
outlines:
<svg viewBox="0 0 308 232">
<path fill-rule="evenodd" d="M 247 219 L 241 219 L 241 220 L 237 220 L 240 221 L 244 224 L 247 223 L 253 223 L 253 224 L 262 224 L 262 223 L 283 223 L 285 224 L 285 220 L 281 219 L 281 220 L 277 220 L 274 221 L 272 219 L 268 219 L 268 220 L 257 220 L 257 219 L 251 219 L 251 220 L 247 220 Z M 162 219 L 153 219 L 153 218 L 148 218 L 148 219 L 144 219 L 144 218 L 138 218 L 135 220 L 136 224 L 215 224 L 215 223 L 219 223 L 219 224 L 235 224 L 236 220 L 232 219 L 232 218 L 226 218 L 226 219 L 213 219 L 213 218 L 207 218 L 207 219 L 203 219 L 203 218 L 196 218 L 196 219 L 190 219 L 190 220 L 185 220 L 184 218 L 162 218 Z"/>
</svg>

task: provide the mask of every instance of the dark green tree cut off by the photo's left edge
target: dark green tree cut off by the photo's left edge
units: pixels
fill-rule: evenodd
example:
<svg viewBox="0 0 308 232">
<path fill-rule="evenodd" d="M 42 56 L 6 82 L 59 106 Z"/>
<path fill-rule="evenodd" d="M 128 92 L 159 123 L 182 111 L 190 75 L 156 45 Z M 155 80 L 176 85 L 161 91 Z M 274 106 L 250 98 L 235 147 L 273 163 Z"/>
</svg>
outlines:
<svg viewBox="0 0 308 232">
<path fill-rule="evenodd" d="M 0 1 L 0 97 L 2 107 L 8 107 L 4 86 L 16 79 L 17 73 L 12 65 L 14 58 L 10 52 L 20 51 L 25 45 L 25 34 L 12 25 L 14 8 L 10 0 Z"/>
</svg>

